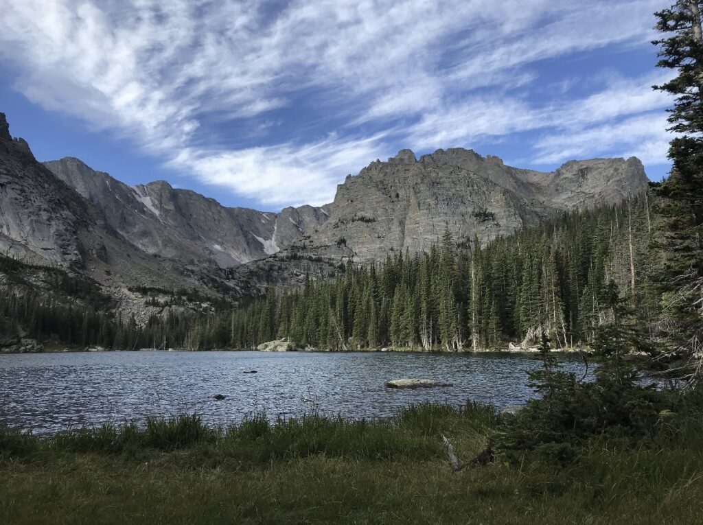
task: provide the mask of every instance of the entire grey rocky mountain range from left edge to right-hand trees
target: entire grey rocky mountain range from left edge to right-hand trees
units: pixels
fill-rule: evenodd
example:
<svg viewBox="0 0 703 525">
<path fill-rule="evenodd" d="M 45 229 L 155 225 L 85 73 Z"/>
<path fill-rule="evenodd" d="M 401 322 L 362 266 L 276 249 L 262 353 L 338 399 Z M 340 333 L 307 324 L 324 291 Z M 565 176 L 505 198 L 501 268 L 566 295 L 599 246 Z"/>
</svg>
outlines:
<svg viewBox="0 0 703 525">
<path fill-rule="evenodd" d="M 460 148 L 420 160 L 401 150 L 347 176 L 330 205 L 258 212 L 165 181 L 127 186 L 71 157 L 41 164 L 0 114 L 1 253 L 86 276 L 120 309 L 146 308 L 136 288 L 237 298 L 295 285 L 349 261 L 425 252 L 446 230 L 458 244 L 484 243 L 645 188 L 634 157 L 541 172 Z"/>
</svg>

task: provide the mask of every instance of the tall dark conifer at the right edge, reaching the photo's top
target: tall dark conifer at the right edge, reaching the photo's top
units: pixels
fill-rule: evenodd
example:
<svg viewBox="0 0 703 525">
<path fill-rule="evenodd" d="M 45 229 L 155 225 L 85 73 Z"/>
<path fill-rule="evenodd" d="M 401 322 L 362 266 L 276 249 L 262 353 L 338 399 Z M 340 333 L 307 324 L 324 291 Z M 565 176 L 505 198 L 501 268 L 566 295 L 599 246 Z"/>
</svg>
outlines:
<svg viewBox="0 0 703 525">
<path fill-rule="evenodd" d="M 670 354 L 690 358 L 703 341 L 703 36 L 701 2 L 679 0 L 656 13 L 659 67 L 676 72 L 666 84 L 654 86 L 675 97 L 669 110 L 671 174 L 656 189 L 658 247 L 664 254 L 659 270 L 659 292 L 664 316 L 659 338 Z M 696 370 L 685 370 L 691 382 Z"/>
</svg>

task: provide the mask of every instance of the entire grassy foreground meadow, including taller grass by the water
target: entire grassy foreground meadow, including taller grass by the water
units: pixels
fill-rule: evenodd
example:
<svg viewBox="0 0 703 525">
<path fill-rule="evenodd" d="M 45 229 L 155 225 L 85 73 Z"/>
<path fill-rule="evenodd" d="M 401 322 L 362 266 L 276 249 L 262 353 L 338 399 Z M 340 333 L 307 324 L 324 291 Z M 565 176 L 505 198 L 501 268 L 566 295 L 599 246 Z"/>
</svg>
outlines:
<svg viewBox="0 0 703 525">
<path fill-rule="evenodd" d="M 0 523 L 695 524 L 703 422 L 679 415 L 633 441 L 592 439 L 566 467 L 498 456 L 451 472 L 501 423 L 425 404 L 391 420 L 263 415 L 225 428 L 195 415 L 62 432 L 0 428 Z"/>
</svg>

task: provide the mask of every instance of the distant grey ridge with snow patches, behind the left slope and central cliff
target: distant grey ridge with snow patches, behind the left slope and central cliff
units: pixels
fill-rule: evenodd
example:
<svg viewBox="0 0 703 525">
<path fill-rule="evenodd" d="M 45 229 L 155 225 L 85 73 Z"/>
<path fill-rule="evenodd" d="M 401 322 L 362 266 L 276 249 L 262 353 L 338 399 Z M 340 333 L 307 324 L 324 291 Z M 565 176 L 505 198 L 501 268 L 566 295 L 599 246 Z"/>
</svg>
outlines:
<svg viewBox="0 0 703 525">
<path fill-rule="evenodd" d="M 288 207 L 280 213 L 228 208 L 165 181 L 127 186 L 72 157 L 44 166 L 101 209 L 108 224 L 138 249 L 184 264 L 231 268 L 263 259 L 329 216 L 328 207 Z"/>
</svg>

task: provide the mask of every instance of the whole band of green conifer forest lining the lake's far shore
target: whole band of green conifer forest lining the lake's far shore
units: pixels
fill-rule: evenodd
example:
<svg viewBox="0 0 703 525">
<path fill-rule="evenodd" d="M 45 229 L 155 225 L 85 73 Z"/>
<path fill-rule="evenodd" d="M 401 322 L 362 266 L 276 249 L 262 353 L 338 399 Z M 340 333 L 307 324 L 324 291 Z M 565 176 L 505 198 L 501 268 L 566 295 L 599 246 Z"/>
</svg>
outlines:
<svg viewBox="0 0 703 525">
<path fill-rule="evenodd" d="M 165 310 L 140 328 L 131 318 L 46 294 L 0 297 L 0 316 L 39 339 L 134 349 L 252 348 L 276 337 L 299 346 L 354 350 L 505 349 L 533 344 L 545 327 L 559 346 L 588 344 L 610 311 L 610 280 L 636 306 L 642 328 L 657 316 L 650 280 L 657 266 L 654 216 L 646 195 L 617 207 L 567 214 L 486 246 L 456 245 L 449 233 L 424 255 L 307 280 L 236 310 L 226 304 L 179 316 L 167 306 L 184 291 L 153 299 Z M 148 292 L 148 290 L 147 290 Z M 168 293 L 166 291 L 162 291 Z"/>
</svg>

